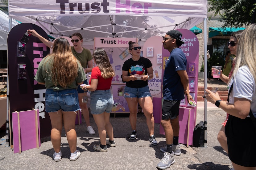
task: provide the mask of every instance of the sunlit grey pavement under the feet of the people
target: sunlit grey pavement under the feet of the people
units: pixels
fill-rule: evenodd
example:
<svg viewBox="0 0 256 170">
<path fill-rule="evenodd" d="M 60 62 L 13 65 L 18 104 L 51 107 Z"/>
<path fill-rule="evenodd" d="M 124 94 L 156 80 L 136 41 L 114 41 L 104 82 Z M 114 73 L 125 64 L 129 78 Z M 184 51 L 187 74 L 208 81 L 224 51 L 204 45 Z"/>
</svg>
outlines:
<svg viewBox="0 0 256 170">
<path fill-rule="evenodd" d="M 175 156 L 175 164 L 167 169 L 175 170 L 229 170 L 231 162 L 227 154 L 217 141 L 217 133 L 221 128 L 221 123 L 225 120 L 226 113 L 211 103 L 207 102 L 207 148 L 188 148 L 181 144 L 181 155 Z M 204 102 L 198 102 L 196 122 L 204 121 Z M 77 149 L 81 151 L 81 156 L 74 162 L 69 160 L 70 151 L 65 132 L 62 132 L 62 160 L 55 162 L 52 159 L 54 150 L 50 137 L 41 139 L 41 147 L 23 151 L 21 154 L 13 153 L 13 149 L 5 147 L 5 132 L 0 132 L 0 169 L 2 170 L 30 170 L 30 169 L 104 169 L 104 170 L 130 170 L 157 169 L 156 165 L 163 157 L 163 152 L 159 149 L 165 146 L 164 135 L 159 134 L 159 124 L 155 124 L 155 136 L 158 145 L 150 145 L 148 141 L 148 129 L 146 118 L 143 114 L 137 116 L 137 139 L 130 140 L 129 114 L 117 113 L 110 115 L 110 121 L 114 128 L 116 147 L 109 147 L 108 152 L 97 152 L 93 150 L 93 145 L 99 143 L 97 126 L 90 115 L 90 122 L 96 132 L 89 135 L 85 130 L 85 122 L 76 125 Z"/>
</svg>

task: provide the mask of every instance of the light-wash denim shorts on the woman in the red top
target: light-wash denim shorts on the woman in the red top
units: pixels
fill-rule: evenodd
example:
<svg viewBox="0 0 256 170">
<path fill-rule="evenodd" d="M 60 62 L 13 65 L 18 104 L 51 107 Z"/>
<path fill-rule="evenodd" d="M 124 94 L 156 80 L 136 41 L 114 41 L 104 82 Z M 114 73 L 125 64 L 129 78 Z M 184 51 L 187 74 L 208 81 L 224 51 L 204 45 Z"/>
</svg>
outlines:
<svg viewBox="0 0 256 170">
<path fill-rule="evenodd" d="M 110 113 L 114 105 L 113 95 L 109 90 L 96 90 L 90 92 L 91 95 L 91 113 L 101 114 L 103 112 Z"/>
</svg>

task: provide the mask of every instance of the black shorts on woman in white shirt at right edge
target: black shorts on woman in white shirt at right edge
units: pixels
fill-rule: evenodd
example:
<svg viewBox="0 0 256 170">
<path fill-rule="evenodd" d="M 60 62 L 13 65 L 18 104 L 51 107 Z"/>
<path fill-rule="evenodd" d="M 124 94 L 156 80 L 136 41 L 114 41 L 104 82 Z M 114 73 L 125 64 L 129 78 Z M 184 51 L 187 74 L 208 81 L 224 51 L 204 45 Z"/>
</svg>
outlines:
<svg viewBox="0 0 256 170">
<path fill-rule="evenodd" d="M 250 117 L 229 115 L 225 126 L 229 159 L 245 167 L 256 166 L 256 132 Z"/>
</svg>

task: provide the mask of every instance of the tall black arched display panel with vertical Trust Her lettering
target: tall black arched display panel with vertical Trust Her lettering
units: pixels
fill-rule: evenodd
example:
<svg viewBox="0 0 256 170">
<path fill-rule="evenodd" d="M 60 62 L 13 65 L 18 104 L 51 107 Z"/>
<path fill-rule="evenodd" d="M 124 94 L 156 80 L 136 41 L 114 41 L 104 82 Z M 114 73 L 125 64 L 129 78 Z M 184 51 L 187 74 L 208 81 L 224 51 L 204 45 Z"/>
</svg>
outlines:
<svg viewBox="0 0 256 170">
<path fill-rule="evenodd" d="M 40 136 L 45 137 L 51 132 L 50 117 L 45 112 L 46 88 L 37 84 L 34 77 L 40 61 L 50 53 L 50 48 L 32 35 L 28 35 L 27 42 L 20 46 L 20 41 L 28 29 L 36 30 L 49 40 L 46 32 L 35 24 L 22 23 L 10 30 L 7 38 L 10 113 L 38 109 Z M 11 114 L 9 120 L 12 120 Z"/>
</svg>

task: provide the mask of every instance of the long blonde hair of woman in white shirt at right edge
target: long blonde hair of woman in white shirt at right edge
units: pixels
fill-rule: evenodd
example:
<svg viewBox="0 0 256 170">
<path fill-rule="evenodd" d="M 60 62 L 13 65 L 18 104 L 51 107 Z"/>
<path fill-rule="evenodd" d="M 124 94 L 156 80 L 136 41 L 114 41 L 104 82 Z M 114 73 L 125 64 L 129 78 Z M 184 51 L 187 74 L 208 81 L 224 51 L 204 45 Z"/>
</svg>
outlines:
<svg viewBox="0 0 256 170">
<path fill-rule="evenodd" d="M 237 44 L 237 61 L 233 75 L 237 73 L 239 67 L 247 65 L 256 82 L 256 24 L 251 24 L 242 33 Z M 233 76 L 232 75 L 232 76 Z"/>
</svg>

